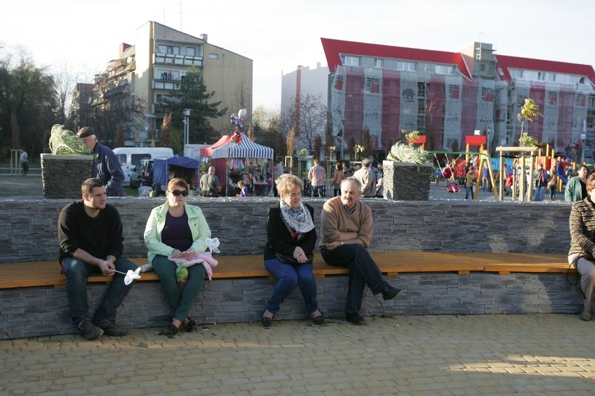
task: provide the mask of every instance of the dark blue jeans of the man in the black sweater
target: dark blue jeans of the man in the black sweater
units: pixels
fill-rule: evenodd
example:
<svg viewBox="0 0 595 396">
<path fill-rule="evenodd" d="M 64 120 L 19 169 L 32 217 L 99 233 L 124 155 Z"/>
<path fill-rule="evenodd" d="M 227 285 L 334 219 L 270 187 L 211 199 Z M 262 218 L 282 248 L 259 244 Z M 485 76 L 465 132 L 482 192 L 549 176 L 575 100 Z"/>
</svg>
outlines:
<svg viewBox="0 0 595 396">
<path fill-rule="evenodd" d="M 124 257 L 117 259 L 114 266 L 116 267 L 116 271 L 122 271 L 123 273 L 126 273 L 128 270 L 134 271 L 138 268 L 136 264 Z M 80 321 L 89 318 L 87 314 L 89 311 L 89 303 L 87 302 L 87 277 L 91 273 L 101 274 L 101 270 L 98 266 L 92 266 L 85 263 L 85 261 L 73 257 L 66 257 L 62 261 L 62 268 L 64 268 L 64 273 L 66 274 L 66 297 L 68 298 L 71 318 L 73 325 L 78 326 Z M 108 286 L 108 291 L 105 291 L 103 302 L 95 311 L 95 321 L 110 320 L 116 317 L 117 308 L 122 305 L 124 297 L 132 289 L 134 283 L 124 284 L 124 276 L 121 273 L 114 274 L 114 280 Z"/>
</svg>

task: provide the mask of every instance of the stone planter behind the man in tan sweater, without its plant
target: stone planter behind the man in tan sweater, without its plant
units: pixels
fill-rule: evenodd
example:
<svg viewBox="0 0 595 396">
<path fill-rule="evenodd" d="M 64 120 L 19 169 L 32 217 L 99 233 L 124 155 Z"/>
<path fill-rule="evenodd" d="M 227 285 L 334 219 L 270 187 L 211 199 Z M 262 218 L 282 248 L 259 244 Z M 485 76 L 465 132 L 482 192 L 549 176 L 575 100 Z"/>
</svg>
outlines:
<svg viewBox="0 0 595 396">
<path fill-rule="evenodd" d="M 383 197 L 395 201 L 427 201 L 432 163 L 383 161 Z"/>
</svg>

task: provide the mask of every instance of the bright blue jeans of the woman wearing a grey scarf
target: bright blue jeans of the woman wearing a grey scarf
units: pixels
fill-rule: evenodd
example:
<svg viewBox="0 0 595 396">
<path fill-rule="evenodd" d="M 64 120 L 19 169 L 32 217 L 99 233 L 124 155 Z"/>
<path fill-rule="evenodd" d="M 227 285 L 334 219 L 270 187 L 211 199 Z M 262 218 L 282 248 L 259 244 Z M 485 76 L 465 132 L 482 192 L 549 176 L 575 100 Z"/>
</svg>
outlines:
<svg viewBox="0 0 595 396">
<path fill-rule="evenodd" d="M 316 312 L 318 301 L 316 300 L 316 279 L 312 273 L 312 264 L 291 264 L 281 263 L 278 259 L 265 260 L 265 268 L 277 278 L 277 284 L 273 289 L 270 300 L 267 301 L 267 310 L 273 314 L 279 311 L 283 300 L 300 287 L 304 305 L 309 314 Z"/>
</svg>

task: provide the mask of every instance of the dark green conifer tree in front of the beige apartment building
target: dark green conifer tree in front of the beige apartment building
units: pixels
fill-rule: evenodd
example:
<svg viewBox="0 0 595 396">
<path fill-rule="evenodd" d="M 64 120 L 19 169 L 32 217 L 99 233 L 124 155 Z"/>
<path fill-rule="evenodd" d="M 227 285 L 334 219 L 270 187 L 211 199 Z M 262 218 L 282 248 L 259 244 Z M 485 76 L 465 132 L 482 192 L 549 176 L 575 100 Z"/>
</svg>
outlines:
<svg viewBox="0 0 595 396">
<path fill-rule="evenodd" d="M 165 100 L 172 108 L 172 127 L 184 129 L 184 109 L 191 109 L 189 142 L 210 142 L 214 139 L 215 131 L 210 119 L 221 117 L 227 112 L 227 107 L 219 109 L 221 101 L 210 102 L 215 91 L 207 92 L 207 86 L 197 66 L 190 66 L 186 77 L 180 82 L 179 91 L 171 91 L 173 100 Z"/>
</svg>

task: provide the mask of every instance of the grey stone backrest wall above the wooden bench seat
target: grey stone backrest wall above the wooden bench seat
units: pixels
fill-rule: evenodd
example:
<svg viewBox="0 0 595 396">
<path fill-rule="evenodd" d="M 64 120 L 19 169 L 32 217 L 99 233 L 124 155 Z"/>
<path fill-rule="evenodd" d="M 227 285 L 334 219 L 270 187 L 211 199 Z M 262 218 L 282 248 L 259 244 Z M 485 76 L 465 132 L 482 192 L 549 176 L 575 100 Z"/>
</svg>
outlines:
<svg viewBox="0 0 595 396">
<path fill-rule="evenodd" d="M 57 258 L 57 220 L 68 199 L 0 199 L 0 263 Z M 203 209 L 221 254 L 260 254 L 274 198 L 188 199 Z M 320 221 L 325 199 L 304 198 Z M 374 214 L 370 251 L 568 252 L 566 202 L 363 199 Z M 122 215 L 124 254 L 146 257 L 143 231 L 161 198 L 110 198 Z M 1 264 L 0 264 L 1 265 Z"/>
</svg>

